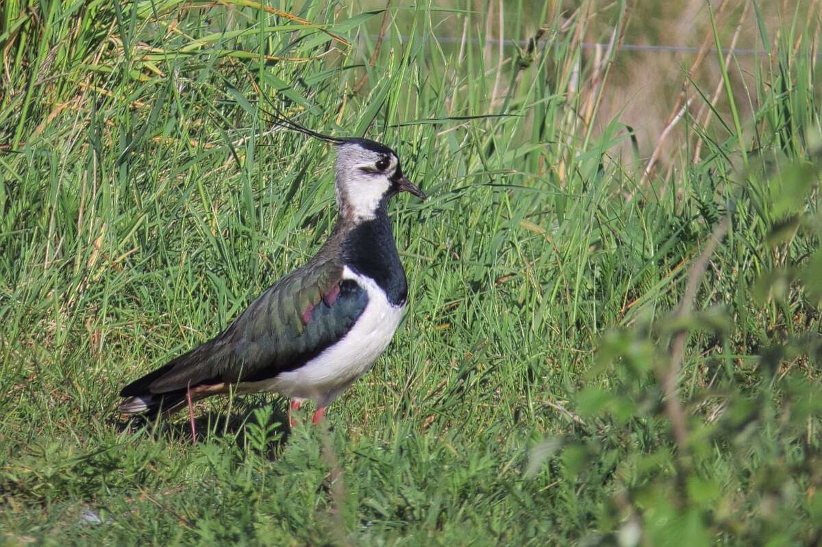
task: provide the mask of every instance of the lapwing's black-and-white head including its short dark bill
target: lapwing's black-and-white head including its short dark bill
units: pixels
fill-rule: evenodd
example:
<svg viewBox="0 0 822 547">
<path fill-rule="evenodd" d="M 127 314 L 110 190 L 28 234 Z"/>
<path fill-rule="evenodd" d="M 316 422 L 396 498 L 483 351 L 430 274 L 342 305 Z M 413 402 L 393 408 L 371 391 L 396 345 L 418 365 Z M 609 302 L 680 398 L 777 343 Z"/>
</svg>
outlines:
<svg viewBox="0 0 822 547">
<path fill-rule="evenodd" d="M 336 172 L 340 212 L 354 218 L 373 218 L 399 192 L 426 199 L 423 191 L 403 175 L 396 152 L 373 140 L 340 140 Z"/>
</svg>

